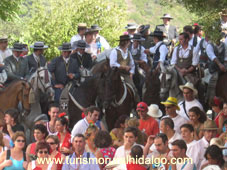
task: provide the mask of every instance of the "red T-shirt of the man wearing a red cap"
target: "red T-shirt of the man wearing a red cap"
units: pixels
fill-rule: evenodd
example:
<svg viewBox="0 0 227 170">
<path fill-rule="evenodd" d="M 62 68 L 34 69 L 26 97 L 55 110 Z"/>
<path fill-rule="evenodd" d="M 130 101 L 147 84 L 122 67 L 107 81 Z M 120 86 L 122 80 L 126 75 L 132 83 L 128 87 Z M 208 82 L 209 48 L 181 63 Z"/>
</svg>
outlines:
<svg viewBox="0 0 227 170">
<path fill-rule="evenodd" d="M 147 120 L 140 119 L 139 130 L 144 131 L 147 136 L 156 135 L 159 133 L 158 122 L 152 117 Z"/>
</svg>

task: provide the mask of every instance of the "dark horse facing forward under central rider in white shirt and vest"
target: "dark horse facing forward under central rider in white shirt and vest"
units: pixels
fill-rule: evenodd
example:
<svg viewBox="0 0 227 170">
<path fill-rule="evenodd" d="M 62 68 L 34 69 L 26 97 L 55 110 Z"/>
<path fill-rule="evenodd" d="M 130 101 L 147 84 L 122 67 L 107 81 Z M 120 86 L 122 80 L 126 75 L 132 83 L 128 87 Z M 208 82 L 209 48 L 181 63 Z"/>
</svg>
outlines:
<svg viewBox="0 0 227 170">
<path fill-rule="evenodd" d="M 135 107 L 134 94 L 130 86 L 122 80 L 118 68 L 110 68 L 106 74 L 102 73 L 99 84 L 99 98 L 103 103 L 108 129 L 111 130 L 120 115 L 130 115 Z"/>
</svg>

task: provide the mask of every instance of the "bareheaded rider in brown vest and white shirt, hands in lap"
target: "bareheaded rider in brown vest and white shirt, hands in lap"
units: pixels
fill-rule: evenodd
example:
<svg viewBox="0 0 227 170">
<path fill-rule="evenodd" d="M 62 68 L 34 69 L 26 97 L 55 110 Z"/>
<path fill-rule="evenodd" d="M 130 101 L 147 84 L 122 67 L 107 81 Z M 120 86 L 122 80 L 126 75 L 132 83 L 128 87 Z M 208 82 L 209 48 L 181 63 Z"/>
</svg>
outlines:
<svg viewBox="0 0 227 170">
<path fill-rule="evenodd" d="M 189 44 L 189 34 L 183 32 L 179 36 L 180 45 L 174 48 L 171 65 L 174 65 L 181 78 L 181 84 L 197 83 L 195 68 L 199 59 L 194 54 L 194 48 Z"/>
</svg>

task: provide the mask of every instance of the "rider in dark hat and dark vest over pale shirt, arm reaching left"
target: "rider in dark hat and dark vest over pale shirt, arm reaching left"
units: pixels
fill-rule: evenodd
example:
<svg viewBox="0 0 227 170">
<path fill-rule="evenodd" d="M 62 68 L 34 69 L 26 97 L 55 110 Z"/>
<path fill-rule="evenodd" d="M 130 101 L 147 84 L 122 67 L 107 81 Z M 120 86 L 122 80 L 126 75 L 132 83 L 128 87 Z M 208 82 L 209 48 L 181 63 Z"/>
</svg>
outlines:
<svg viewBox="0 0 227 170">
<path fill-rule="evenodd" d="M 164 62 L 168 55 L 168 49 L 163 42 L 165 35 L 162 31 L 154 31 L 150 36 L 154 37 L 155 46 L 146 49 L 145 53 L 154 54 L 152 69 L 159 70 L 164 67 Z"/>
</svg>

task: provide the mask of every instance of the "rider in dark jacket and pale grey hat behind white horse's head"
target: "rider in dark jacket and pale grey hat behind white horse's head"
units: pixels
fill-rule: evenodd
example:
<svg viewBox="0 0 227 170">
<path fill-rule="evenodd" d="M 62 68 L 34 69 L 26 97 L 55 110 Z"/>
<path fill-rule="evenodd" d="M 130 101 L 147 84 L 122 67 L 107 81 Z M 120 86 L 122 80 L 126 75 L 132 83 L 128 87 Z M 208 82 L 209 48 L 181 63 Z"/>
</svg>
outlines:
<svg viewBox="0 0 227 170">
<path fill-rule="evenodd" d="M 30 72 L 35 72 L 38 67 L 44 67 L 46 65 L 46 58 L 43 56 L 44 50 L 48 48 L 43 42 L 35 42 L 30 46 L 34 49 L 34 52 L 27 56 L 28 67 Z"/>
</svg>

